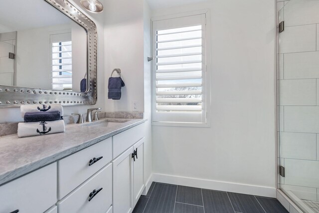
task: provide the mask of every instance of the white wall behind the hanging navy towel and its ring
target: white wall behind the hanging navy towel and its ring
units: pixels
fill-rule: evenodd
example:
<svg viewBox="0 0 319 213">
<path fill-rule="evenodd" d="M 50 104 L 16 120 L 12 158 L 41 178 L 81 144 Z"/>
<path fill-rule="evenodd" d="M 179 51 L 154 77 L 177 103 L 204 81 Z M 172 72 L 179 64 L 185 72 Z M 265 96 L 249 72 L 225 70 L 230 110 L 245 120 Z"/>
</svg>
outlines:
<svg viewBox="0 0 319 213">
<path fill-rule="evenodd" d="M 108 0 L 105 17 L 105 90 L 114 68 L 126 84 L 121 100 L 107 99 L 106 111 L 144 111 L 144 0 Z M 117 76 L 116 73 L 113 75 Z"/>
</svg>

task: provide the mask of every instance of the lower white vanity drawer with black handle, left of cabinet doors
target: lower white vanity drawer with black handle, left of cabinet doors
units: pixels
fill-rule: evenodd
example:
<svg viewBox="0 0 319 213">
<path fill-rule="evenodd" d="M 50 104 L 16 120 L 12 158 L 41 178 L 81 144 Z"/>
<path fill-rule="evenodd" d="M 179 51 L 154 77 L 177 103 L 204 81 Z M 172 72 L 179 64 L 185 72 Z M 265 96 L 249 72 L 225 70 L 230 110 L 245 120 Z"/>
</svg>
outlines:
<svg viewBox="0 0 319 213">
<path fill-rule="evenodd" d="M 89 201 L 94 190 L 102 190 Z M 59 213 L 106 213 L 112 205 L 112 164 L 57 203 Z"/>
</svg>

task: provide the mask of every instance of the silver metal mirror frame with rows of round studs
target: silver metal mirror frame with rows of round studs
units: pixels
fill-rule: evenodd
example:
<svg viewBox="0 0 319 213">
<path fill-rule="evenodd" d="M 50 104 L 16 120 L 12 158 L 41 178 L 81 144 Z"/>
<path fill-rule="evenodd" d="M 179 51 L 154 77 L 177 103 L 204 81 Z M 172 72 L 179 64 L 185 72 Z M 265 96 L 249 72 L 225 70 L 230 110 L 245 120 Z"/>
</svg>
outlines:
<svg viewBox="0 0 319 213">
<path fill-rule="evenodd" d="M 91 105 L 97 100 L 96 24 L 68 0 L 45 0 L 80 24 L 87 32 L 87 92 L 71 92 L 0 85 L 0 108 L 29 104 L 60 103 L 64 106 Z"/>
</svg>

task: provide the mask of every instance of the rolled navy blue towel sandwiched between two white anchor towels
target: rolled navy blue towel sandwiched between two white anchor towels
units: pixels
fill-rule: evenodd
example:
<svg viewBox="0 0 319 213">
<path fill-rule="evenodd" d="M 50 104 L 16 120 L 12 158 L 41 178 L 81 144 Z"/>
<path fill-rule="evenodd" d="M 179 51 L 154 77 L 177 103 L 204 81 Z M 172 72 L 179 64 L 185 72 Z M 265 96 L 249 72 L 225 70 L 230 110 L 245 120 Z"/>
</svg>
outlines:
<svg viewBox="0 0 319 213">
<path fill-rule="evenodd" d="M 24 122 L 57 121 L 63 120 L 59 111 L 51 112 L 26 112 Z"/>
</svg>

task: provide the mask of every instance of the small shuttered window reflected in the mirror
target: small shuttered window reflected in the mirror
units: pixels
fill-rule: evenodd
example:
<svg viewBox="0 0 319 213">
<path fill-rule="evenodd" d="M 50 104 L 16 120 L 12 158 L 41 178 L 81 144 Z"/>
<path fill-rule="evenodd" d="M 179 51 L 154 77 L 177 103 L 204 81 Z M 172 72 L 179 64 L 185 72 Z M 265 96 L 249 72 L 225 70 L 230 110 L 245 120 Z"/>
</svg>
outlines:
<svg viewBox="0 0 319 213">
<path fill-rule="evenodd" d="M 71 33 L 54 34 L 50 39 L 52 89 L 72 91 Z"/>
</svg>

